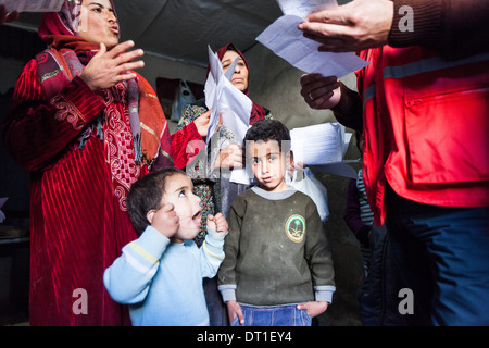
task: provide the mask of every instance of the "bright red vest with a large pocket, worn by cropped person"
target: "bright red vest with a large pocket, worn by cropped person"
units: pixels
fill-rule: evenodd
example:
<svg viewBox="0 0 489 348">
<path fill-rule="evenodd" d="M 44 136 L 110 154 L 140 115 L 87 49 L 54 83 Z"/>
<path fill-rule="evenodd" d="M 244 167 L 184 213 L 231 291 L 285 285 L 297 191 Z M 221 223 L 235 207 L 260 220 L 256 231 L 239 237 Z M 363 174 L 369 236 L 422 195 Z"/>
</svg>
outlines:
<svg viewBox="0 0 489 348">
<path fill-rule="evenodd" d="M 360 57 L 363 175 L 375 223 L 385 188 L 443 207 L 489 206 L 489 53 L 447 61 L 419 47 Z"/>
</svg>

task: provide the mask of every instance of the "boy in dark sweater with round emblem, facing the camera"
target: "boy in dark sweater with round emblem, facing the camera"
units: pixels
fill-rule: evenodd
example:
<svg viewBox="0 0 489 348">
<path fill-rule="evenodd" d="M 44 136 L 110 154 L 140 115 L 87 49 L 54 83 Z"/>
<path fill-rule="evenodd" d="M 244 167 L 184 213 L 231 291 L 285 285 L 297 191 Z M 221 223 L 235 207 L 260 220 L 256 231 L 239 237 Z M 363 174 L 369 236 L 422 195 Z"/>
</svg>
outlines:
<svg viewBox="0 0 489 348">
<path fill-rule="evenodd" d="M 262 120 L 244 137 L 247 165 L 260 185 L 229 211 L 217 277 L 231 325 L 306 326 L 335 291 L 331 253 L 313 200 L 286 184 L 290 134 Z"/>
</svg>

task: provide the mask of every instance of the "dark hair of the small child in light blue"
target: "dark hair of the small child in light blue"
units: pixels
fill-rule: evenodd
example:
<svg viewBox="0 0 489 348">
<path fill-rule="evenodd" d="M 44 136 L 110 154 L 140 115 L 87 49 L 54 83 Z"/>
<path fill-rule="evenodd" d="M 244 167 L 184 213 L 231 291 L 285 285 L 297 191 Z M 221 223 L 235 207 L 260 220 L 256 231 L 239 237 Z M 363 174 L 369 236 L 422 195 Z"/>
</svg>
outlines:
<svg viewBox="0 0 489 348">
<path fill-rule="evenodd" d="M 148 212 L 161 208 L 166 178 L 175 174 L 187 175 L 179 169 L 165 167 L 142 176 L 130 187 L 126 200 L 127 212 L 138 235 L 145 232 L 146 227 L 150 224 L 146 216 Z"/>
</svg>

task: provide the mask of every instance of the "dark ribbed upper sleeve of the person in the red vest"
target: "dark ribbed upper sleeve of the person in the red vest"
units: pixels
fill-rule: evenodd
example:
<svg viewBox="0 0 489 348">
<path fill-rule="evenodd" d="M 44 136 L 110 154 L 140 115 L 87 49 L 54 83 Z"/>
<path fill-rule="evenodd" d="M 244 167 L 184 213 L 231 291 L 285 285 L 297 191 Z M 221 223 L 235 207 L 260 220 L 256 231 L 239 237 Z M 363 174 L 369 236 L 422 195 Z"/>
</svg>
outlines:
<svg viewBox="0 0 489 348">
<path fill-rule="evenodd" d="M 394 13 L 389 46 L 424 46 L 446 59 L 489 51 L 489 1 L 393 0 Z M 413 30 L 401 32 L 408 5 L 413 9 Z"/>
</svg>

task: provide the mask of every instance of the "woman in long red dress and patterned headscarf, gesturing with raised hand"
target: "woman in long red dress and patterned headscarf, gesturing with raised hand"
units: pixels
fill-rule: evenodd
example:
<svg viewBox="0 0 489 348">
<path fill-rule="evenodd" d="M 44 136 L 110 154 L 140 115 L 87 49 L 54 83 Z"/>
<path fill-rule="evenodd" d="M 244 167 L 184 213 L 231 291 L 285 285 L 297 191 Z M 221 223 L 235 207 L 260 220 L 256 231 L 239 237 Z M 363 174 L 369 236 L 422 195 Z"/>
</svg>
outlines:
<svg viewBox="0 0 489 348">
<path fill-rule="evenodd" d="M 30 171 L 32 325 L 130 324 L 102 275 L 137 237 L 130 185 L 172 165 L 170 133 L 134 42 L 118 44 L 111 0 L 46 13 L 48 49 L 18 78 L 5 148 Z M 136 61 L 135 61 L 136 60 Z"/>
</svg>

